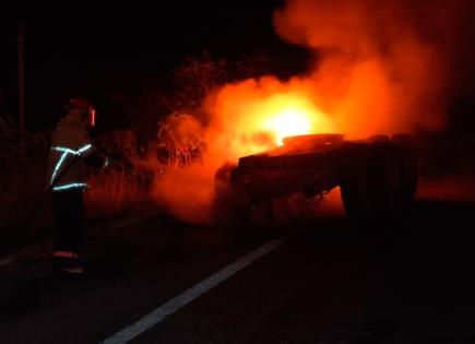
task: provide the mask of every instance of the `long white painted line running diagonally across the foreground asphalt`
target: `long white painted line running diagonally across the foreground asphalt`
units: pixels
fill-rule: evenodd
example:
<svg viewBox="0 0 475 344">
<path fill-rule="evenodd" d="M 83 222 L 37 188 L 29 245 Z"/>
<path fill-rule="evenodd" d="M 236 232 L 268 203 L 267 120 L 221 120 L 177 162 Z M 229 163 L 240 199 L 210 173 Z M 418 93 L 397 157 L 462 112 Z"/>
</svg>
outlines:
<svg viewBox="0 0 475 344">
<path fill-rule="evenodd" d="M 252 252 L 248 253 L 247 256 L 242 257 L 238 261 L 234 262 L 230 265 L 227 265 L 223 270 L 216 272 L 215 274 L 209 276 L 207 278 L 201 281 L 197 285 L 190 287 L 189 289 L 185 290 L 182 294 L 178 295 L 177 297 L 170 299 L 169 301 L 163 304 L 149 315 L 144 316 L 139 321 L 123 328 L 116 334 L 111 335 L 109 339 L 102 342 L 102 344 L 121 344 L 127 343 L 146 330 L 153 328 L 157 323 L 159 323 L 162 320 L 164 320 L 169 315 L 173 315 L 180 308 L 185 307 L 187 304 L 191 303 L 197 297 L 203 295 L 211 288 L 215 287 L 223 281 L 229 278 L 234 274 L 236 274 L 238 271 L 245 269 L 249 264 L 251 264 L 253 261 L 260 259 L 261 257 L 265 256 L 266 253 L 271 252 L 272 250 L 276 249 L 278 246 L 281 246 L 284 241 L 283 240 L 272 240 L 268 244 L 259 247 L 258 249 L 253 250 Z"/>
</svg>

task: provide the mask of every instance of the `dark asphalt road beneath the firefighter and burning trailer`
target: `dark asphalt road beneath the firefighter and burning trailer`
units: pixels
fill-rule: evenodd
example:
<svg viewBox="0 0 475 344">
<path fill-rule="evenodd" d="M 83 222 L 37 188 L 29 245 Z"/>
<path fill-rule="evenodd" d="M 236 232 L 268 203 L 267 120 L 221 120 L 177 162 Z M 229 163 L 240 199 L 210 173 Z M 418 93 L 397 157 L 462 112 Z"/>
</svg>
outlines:
<svg viewBox="0 0 475 344">
<path fill-rule="evenodd" d="M 475 343 L 474 214 L 418 201 L 372 229 L 237 233 L 156 216 L 93 235 L 82 277 L 47 249 L 3 269 L 0 343 L 119 343 L 133 323 L 132 343 Z"/>
</svg>

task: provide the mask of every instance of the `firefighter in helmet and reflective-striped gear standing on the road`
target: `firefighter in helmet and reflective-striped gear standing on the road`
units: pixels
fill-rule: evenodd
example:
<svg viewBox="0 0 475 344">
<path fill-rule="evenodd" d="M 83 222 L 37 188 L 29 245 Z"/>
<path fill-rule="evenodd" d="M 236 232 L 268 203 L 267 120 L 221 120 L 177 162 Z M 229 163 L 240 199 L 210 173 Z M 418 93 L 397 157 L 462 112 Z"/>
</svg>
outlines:
<svg viewBox="0 0 475 344">
<path fill-rule="evenodd" d="M 80 252 L 85 240 L 84 191 L 86 166 L 105 167 L 107 157 L 91 138 L 95 124 L 94 106 L 83 98 L 69 99 L 67 115 L 51 133 L 48 156 L 48 186 L 55 221 L 54 261 L 63 272 L 81 274 Z"/>
</svg>

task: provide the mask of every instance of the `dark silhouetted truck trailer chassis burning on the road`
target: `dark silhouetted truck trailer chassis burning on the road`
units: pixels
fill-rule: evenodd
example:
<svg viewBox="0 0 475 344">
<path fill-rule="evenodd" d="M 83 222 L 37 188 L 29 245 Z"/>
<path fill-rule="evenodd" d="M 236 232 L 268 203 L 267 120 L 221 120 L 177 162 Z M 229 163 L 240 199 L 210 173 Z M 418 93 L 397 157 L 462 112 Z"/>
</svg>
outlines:
<svg viewBox="0 0 475 344">
<path fill-rule="evenodd" d="M 276 149 L 225 164 L 215 174 L 216 221 L 249 218 L 260 205 L 297 194 L 322 199 L 340 187 L 347 215 L 357 221 L 394 218 L 411 207 L 417 157 L 409 134 L 348 141 L 343 134 L 284 139 Z"/>
</svg>

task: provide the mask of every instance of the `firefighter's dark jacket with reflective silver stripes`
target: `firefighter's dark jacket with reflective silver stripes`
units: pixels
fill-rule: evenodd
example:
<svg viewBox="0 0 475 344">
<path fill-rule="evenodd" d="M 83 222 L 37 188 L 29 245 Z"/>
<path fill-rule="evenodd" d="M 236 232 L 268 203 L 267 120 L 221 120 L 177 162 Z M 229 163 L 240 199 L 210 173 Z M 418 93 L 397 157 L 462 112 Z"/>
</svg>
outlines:
<svg viewBox="0 0 475 344">
<path fill-rule="evenodd" d="M 51 191 L 86 189 L 85 158 L 96 151 L 86 123 L 67 115 L 51 133 L 47 174 Z"/>
</svg>

